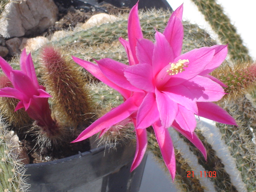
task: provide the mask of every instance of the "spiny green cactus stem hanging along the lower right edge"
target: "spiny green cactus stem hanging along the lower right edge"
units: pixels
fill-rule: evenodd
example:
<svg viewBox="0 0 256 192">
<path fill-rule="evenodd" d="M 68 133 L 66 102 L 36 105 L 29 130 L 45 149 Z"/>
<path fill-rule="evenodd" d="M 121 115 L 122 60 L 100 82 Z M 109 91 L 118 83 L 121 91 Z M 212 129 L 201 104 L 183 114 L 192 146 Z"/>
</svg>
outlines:
<svg viewBox="0 0 256 192">
<path fill-rule="evenodd" d="M 238 127 L 223 124 L 217 124 L 217 126 L 220 128 L 222 138 L 230 148 L 232 157 L 236 160 L 238 170 L 241 171 L 243 182 L 248 191 L 256 192 L 256 145 L 253 136 L 254 130 L 252 129 L 255 116 L 248 118 L 248 114 L 255 111 L 250 111 L 248 108 L 255 104 L 244 97 L 242 100 L 241 98 L 229 100 L 228 105 L 224 100 L 220 105 L 236 117 Z"/>
</svg>

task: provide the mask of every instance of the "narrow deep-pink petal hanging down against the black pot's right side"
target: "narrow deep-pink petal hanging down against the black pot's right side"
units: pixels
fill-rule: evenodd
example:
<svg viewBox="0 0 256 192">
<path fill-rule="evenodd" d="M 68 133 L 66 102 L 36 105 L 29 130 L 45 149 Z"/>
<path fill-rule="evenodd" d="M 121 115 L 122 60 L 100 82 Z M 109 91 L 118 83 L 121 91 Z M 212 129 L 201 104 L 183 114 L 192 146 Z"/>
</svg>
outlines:
<svg viewBox="0 0 256 192">
<path fill-rule="evenodd" d="M 148 139 L 146 129 L 136 129 L 136 152 L 132 162 L 131 172 L 138 167 L 147 149 Z"/>
</svg>

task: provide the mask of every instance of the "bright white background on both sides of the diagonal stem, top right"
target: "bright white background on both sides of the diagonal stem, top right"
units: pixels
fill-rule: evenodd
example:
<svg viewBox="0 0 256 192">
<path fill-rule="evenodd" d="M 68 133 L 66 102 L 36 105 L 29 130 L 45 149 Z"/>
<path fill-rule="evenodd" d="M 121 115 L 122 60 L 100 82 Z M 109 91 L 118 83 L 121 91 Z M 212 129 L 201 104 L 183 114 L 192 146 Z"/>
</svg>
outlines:
<svg viewBox="0 0 256 192">
<path fill-rule="evenodd" d="M 167 0 L 173 10 L 184 2 L 183 18 L 207 27 L 204 17 L 191 0 Z M 216 0 L 222 5 L 225 14 L 236 26 L 242 36 L 244 45 L 249 49 L 250 56 L 256 59 L 256 1 L 254 0 Z"/>
</svg>

